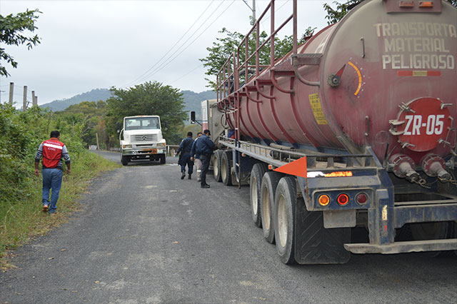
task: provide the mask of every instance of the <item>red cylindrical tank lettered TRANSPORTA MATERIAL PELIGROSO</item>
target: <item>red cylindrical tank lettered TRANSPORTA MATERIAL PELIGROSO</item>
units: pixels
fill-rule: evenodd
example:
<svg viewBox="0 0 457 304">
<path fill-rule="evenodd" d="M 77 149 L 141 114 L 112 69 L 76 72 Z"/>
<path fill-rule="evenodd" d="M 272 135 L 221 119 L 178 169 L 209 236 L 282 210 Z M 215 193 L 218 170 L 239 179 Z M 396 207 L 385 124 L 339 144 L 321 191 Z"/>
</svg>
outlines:
<svg viewBox="0 0 457 304">
<path fill-rule="evenodd" d="M 349 152 L 371 146 L 381 161 L 403 153 L 420 163 L 455 148 L 457 9 L 447 1 L 363 1 L 298 54 L 321 54 L 318 64 L 298 68 L 320 85 L 281 74 L 278 86 L 293 90 L 283 93 L 260 81 L 270 75 L 262 71 L 258 83 L 246 83 L 260 87 L 250 96 L 262 102 L 241 95 L 245 136 Z M 291 54 L 276 66 L 285 61 Z M 231 126 L 233 113 L 227 115 Z"/>
</svg>

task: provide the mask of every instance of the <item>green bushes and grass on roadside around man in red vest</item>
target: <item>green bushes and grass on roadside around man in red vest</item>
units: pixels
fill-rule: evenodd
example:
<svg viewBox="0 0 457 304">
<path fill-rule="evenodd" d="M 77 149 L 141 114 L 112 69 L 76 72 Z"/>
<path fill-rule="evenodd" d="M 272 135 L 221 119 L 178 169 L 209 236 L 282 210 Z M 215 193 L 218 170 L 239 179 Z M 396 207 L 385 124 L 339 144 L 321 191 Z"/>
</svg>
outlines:
<svg viewBox="0 0 457 304">
<path fill-rule="evenodd" d="M 0 105 L 0 256 L 33 235 L 45 233 L 61 216 L 41 213 L 41 174 L 34 176 L 34 156 L 41 141 L 59 129 L 71 157 L 71 175 L 64 174 L 59 213 L 75 210 L 74 203 L 101 171 L 116 165 L 84 148 L 84 123 L 70 123 L 38 107 L 21 112 Z"/>
</svg>

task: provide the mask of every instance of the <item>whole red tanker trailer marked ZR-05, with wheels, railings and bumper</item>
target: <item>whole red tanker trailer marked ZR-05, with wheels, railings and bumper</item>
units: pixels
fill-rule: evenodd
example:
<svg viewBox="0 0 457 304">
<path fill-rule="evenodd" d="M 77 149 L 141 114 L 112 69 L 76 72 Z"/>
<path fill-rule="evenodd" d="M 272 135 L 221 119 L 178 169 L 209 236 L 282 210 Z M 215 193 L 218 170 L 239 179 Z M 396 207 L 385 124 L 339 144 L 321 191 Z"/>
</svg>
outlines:
<svg viewBox="0 0 457 304">
<path fill-rule="evenodd" d="M 216 180 L 250 184 L 253 221 L 283 263 L 456 250 L 457 9 L 363 1 L 275 60 L 271 38 L 289 20 L 297 41 L 296 1 L 277 29 L 271 1 L 204 103 L 210 127 L 235 133 L 217 138 Z M 356 227 L 366 240 L 351 240 Z"/>
</svg>

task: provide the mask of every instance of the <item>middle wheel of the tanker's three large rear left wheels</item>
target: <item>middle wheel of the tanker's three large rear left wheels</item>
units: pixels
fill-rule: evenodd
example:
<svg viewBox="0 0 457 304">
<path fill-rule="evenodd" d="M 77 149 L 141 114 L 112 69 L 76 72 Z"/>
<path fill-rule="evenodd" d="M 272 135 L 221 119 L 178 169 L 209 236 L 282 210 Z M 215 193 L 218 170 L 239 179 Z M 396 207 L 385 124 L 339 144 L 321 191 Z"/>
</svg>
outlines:
<svg viewBox="0 0 457 304">
<path fill-rule="evenodd" d="M 260 195 L 260 214 L 262 217 L 263 238 L 268 243 L 274 243 L 274 195 L 278 182 L 283 177 L 281 173 L 269 171 L 263 175 Z"/>
</svg>

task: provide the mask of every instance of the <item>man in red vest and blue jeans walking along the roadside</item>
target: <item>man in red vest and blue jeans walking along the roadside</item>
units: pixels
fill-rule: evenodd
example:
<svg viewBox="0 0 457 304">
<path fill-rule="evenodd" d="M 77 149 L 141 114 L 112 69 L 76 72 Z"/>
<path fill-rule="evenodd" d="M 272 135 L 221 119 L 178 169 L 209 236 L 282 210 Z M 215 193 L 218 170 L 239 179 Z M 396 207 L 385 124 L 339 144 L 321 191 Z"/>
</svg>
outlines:
<svg viewBox="0 0 457 304">
<path fill-rule="evenodd" d="M 64 143 L 60 141 L 59 131 L 52 131 L 51 138 L 40 144 L 35 155 L 35 175 L 39 176 L 39 162 L 43 156 L 43 212 L 56 213 L 57 200 L 59 200 L 64 158 L 66 173 L 70 174 L 70 156 Z M 49 191 L 51 191 L 51 205 L 49 205 Z"/>
</svg>

